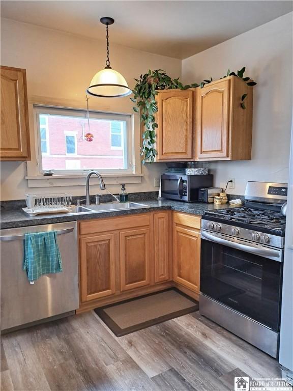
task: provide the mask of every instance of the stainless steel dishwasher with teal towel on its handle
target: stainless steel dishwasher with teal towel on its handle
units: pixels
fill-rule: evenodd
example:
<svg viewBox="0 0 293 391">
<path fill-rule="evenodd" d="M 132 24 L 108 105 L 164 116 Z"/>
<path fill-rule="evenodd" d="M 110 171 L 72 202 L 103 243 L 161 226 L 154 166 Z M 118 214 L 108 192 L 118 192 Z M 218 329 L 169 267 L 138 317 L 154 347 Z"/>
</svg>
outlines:
<svg viewBox="0 0 293 391">
<path fill-rule="evenodd" d="M 24 234 L 55 230 L 63 271 L 42 275 L 30 284 L 23 271 Z M 1 240 L 1 330 L 49 317 L 70 315 L 78 308 L 76 222 L 5 229 Z M 52 318 L 53 319 L 53 318 Z"/>
</svg>

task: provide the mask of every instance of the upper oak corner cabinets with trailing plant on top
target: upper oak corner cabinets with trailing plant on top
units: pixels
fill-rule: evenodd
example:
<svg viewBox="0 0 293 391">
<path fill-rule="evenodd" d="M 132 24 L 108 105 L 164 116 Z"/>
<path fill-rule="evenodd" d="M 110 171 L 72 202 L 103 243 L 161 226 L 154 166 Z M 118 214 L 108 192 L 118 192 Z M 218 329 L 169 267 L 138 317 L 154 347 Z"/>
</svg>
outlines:
<svg viewBox="0 0 293 391">
<path fill-rule="evenodd" d="M 251 159 L 253 87 L 239 77 L 158 91 L 156 100 L 156 161 Z"/>
</svg>

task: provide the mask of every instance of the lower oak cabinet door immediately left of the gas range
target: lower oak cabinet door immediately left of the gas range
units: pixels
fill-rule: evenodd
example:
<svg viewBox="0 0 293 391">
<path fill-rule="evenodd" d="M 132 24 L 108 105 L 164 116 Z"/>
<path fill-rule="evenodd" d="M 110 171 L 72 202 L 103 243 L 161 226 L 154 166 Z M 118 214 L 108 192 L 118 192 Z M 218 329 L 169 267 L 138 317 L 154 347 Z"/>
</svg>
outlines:
<svg viewBox="0 0 293 391">
<path fill-rule="evenodd" d="M 173 227 L 173 280 L 199 293 L 200 232 Z"/>
</svg>

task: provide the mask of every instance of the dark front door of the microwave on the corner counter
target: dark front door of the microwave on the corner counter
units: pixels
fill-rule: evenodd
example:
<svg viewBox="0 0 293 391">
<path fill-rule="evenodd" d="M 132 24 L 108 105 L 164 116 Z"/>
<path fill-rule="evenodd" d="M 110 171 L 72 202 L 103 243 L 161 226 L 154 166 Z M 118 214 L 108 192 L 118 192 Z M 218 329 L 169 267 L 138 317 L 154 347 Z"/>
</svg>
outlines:
<svg viewBox="0 0 293 391">
<path fill-rule="evenodd" d="M 161 175 L 161 195 L 171 200 L 187 200 L 187 180 L 182 175 Z"/>
</svg>

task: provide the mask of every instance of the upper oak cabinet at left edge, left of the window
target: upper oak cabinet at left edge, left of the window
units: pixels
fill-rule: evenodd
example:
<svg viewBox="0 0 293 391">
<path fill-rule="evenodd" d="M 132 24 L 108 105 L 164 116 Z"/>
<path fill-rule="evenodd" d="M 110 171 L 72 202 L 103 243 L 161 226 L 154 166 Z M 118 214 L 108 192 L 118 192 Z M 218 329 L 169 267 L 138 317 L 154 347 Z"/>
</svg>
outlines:
<svg viewBox="0 0 293 391">
<path fill-rule="evenodd" d="M 1 160 L 30 160 L 24 69 L 1 66 Z"/>
</svg>

